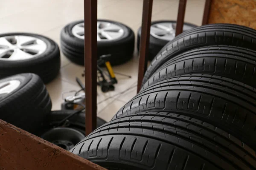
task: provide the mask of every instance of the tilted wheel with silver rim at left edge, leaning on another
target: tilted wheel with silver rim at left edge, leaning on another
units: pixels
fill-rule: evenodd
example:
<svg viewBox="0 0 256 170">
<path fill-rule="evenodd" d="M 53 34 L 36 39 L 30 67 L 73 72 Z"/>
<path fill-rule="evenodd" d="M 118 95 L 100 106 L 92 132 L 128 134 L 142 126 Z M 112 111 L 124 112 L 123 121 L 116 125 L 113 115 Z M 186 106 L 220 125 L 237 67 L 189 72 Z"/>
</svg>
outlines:
<svg viewBox="0 0 256 170">
<path fill-rule="evenodd" d="M 36 74 L 0 80 L 0 119 L 34 133 L 52 108 L 46 87 Z"/>
</svg>

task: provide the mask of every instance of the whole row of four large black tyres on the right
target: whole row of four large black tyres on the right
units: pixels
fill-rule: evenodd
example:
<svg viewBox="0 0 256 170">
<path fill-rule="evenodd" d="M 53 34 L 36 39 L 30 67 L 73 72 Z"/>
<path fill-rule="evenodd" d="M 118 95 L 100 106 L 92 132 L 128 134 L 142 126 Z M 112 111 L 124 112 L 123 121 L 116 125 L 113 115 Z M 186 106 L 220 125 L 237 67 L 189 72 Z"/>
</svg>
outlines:
<svg viewBox="0 0 256 170">
<path fill-rule="evenodd" d="M 256 31 L 212 24 L 157 54 L 140 92 L 70 151 L 116 170 L 256 169 Z"/>
</svg>

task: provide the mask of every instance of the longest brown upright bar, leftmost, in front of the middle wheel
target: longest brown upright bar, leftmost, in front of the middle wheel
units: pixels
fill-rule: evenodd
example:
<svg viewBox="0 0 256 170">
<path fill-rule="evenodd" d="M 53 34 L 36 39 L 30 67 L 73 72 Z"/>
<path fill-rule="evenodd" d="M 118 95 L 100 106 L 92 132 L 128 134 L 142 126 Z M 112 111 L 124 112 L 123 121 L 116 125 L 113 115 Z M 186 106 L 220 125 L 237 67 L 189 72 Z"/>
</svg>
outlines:
<svg viewBox="0 0 256 170">
<path fill-rule="evenodd" d="M 96 129 L 97 0 L 84 0 L 85 133 Z"/>
</svg>

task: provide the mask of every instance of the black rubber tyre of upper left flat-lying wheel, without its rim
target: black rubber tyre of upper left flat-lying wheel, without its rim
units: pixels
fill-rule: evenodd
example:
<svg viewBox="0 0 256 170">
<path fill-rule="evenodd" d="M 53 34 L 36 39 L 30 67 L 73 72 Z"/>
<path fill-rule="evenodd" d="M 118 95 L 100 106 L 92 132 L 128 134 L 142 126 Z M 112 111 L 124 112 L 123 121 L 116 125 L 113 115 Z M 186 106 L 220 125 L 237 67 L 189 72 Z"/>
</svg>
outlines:
<svg viewBox="0 0 256 170">
<path fill-rule="evenodd" d="M 53 40 L 38 34 L 9 33 L 0 34 L 0 37 L 9 35 L 26 35 L 37 37 L 47 44 L 47 49 L 38 57 L 19 61 L 0 61 L 0 79 L 20 73 L 34 73 L 48 83 L 58 76 L 61 66 L 60 50 Z"/>
</svg>

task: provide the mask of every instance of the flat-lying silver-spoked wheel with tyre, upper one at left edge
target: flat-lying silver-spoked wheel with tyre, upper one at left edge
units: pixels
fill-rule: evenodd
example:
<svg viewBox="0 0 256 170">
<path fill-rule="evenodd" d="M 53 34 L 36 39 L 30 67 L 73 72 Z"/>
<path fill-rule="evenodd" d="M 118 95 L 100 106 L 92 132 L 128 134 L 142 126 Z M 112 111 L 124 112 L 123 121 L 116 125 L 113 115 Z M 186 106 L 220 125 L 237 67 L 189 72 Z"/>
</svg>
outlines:
<svg viewBox="0 0 256 170">
<path fill-rule="evenodd" d="M 58 45 L 47 37 L 29 33 L 0 34 L 0 78 L 34 73 L 47 83 L 57 77 L 60 63 Z"/>
</svg>

